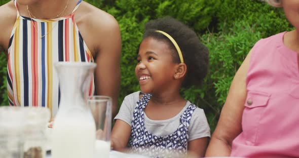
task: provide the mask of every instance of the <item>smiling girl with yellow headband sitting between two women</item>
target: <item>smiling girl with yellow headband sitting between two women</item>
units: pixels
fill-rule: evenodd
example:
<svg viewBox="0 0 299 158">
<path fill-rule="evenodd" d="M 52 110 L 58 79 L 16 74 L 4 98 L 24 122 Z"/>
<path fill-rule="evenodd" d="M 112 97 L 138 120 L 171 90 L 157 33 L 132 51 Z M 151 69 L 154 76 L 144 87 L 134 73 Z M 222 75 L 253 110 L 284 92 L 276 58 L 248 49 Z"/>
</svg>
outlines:
<svg viewBox="0 0 299 158">
<path fill-rule="evenodd" d="M 196 33 L 167 17 L 149 21 L 135 74 L 141 92 L 125 97 L 112 131 L 115 150 L 153 157 L 203 156 L 210 129 L 203 109 L 181 97 L 181 87 L 200 85 L 208 49 Z"/>
</svg>

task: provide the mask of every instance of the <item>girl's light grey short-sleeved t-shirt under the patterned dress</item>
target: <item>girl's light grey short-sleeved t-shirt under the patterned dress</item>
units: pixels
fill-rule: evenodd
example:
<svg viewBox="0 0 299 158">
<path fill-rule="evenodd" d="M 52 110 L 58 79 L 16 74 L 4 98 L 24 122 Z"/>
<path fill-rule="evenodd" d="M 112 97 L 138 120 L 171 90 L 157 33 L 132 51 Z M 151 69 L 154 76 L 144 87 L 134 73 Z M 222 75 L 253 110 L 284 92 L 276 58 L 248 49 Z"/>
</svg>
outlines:
<svg viewBox="0 0 299 158">
<path fill-rule="evenodd" d="M 114 118 L 115 121 L 119 119 L 131 126 L 134 109 L 137 105 L 137 101 L 139 101 L 139 94 L 140 91 L 125 97 L 119 113 Z M 184 108 L 177 115 L 167 120 L 151 120 L 144 112 L 144 125 L 146 130 L 153 135 L 162 137 L 172 134 L 179 126 L 180 115 L 182 115 L 184 110 L 186 110 L 190 104 L 190 101 L 187 101 Z M 211 136 L 210 127 L 203 109 L 196 108 L 194 110 L 188 130 L 188 141 Z"/>
</svg>

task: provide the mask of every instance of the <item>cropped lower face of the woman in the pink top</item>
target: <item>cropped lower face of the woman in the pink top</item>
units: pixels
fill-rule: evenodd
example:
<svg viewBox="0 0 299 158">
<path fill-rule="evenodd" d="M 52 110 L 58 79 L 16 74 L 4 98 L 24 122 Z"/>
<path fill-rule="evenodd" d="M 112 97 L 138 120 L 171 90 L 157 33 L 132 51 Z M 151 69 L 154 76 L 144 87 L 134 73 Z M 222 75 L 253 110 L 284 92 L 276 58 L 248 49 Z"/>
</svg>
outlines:
<svg viewBox="0 0 299 158">
<path fill-rule="evenodd" d="M 282 0 L 282 7 L 288 21 L 299 29 L 299 1 L 298 0 Z"/>
</svg>

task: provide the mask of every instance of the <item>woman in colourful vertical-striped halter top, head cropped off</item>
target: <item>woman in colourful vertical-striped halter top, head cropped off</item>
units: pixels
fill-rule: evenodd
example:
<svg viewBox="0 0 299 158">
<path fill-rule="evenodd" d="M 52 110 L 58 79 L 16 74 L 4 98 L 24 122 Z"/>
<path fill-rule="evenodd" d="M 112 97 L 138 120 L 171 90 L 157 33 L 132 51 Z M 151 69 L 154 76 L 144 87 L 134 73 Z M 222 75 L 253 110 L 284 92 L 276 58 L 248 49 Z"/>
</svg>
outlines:
<svg viewBox="0 0 299 158">
<path fill-rule="evenodd" d="M 82 0 L 12 0 L 0 7 L 0 30 L 10 105 L 48 107 L 55 116 L 60 90 L 54 64 L 96 62 L 89 94 L 111 96 L 116 112 L 121 36 L 113 16 Z"/>
</svg>

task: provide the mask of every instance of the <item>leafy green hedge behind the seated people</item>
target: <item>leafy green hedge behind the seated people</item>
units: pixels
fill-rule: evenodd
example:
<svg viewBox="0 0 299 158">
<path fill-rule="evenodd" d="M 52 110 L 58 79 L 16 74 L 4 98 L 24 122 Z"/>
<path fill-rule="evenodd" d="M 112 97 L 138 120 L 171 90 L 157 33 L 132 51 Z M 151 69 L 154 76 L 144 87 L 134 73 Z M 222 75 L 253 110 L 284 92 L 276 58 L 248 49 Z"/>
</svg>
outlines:
<svg viewBox="0 0 299 158">
<path fill-rule="evenodd" d="M 8 1 L 0 1 L 0 5 Z M 186 99 L 206 112 L 212 131 L 235 72 L 260 38 L 291 30 L 282 9 L 258 0 L 89 0 L 114 15 L 122 33 L 122 83 L 119 103 L 139 90 L 134 74 L 144 24 L 172 16 L 192 27 L 210 51 L 209 73 L 201 89 L 183 89 Z M 6 58 L 0 55 L 0 104 L 7 105 Z"/>
</svg>

